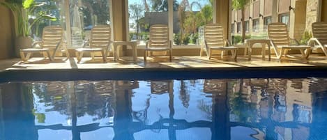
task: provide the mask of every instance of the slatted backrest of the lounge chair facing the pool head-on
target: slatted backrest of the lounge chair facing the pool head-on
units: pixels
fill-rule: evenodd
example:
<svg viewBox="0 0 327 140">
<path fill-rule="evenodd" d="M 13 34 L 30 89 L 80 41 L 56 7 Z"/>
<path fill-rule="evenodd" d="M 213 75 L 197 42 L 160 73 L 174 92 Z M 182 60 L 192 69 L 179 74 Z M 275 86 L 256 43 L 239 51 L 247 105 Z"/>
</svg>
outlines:
<svg viewBox="0 0 327 140">
<path fill-rule="evenodd" d="M 149 36 L 149 47 L 169 47 L 169 28 L 166 24 L 153 24 Z"/>
</svg>

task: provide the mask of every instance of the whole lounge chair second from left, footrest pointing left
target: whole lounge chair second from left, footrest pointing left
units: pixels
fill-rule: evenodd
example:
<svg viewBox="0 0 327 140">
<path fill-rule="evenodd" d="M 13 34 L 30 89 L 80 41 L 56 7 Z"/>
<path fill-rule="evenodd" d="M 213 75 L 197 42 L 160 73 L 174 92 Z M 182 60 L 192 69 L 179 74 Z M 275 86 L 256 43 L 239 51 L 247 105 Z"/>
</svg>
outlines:
<svg viewBox="0 0 327 140">
<path fill-rule="evenodd" d="M 91 37 L 89 42 L 89 47 L 75 49 L 77 61 L 80 62 L 83 57 L 84 52 L 90 52 L 92 59 L 94 58 L 94 52 L 101 52 L 103 61 L 107 61 L 107 53 L 109 51 L 109 46 L 112 43 L 111 39 L 111 29 L 109 25 L 98 25 L 94 26 L 91 30 Z"/>
</svg>

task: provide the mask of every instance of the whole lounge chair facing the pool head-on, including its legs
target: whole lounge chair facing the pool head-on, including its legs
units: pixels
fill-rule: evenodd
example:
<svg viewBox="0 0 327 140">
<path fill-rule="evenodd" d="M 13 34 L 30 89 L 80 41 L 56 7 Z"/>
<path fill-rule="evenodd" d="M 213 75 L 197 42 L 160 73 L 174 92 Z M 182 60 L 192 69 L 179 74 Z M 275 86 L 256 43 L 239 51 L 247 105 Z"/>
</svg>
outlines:
<svg viewBox="0 0 327 140">
<path fill-rule="evenodd" d="M 172 61 L 172 41 L 169 40 L 169 28 L 165 24 L 153 24 L 150 27 L 149 41 L 144 49 L 144 61 L 148 52 L 169 52 L 169 61 Z"/>
</svg>

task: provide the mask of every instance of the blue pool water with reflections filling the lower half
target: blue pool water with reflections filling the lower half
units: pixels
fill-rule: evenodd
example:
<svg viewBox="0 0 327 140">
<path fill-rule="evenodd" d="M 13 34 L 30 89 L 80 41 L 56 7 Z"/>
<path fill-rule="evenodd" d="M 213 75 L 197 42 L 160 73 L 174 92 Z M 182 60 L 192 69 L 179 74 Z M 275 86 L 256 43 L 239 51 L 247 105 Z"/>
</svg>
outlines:
<svg viewBox="0 0 327 140">
<path fill-rule="evenodd" d="M 320 140 L 326 118 L 323 78 L 0 84 L 5 140 Z"/>
</svg>

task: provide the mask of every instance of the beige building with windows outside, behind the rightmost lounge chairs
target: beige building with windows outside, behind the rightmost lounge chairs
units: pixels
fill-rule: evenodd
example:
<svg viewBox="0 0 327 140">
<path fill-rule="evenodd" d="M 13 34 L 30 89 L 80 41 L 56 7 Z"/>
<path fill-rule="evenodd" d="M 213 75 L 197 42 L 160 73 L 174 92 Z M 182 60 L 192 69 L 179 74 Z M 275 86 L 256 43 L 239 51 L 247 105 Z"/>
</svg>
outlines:
<svg viewBox="0 0 327 140">
<path fill-rule="evenodd" d="M 256 0 L 245 8 L 245 32 L 251 36 L 266 36 L 271 22 L 289 24 L 291 38 L 301 39 L 312 22 L 319 21 L 319 0 Z M 231 33 L 241 36 L 241 10 L 231 11 Z"/>
</svg>

